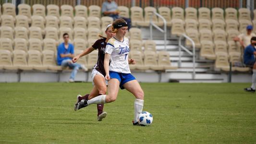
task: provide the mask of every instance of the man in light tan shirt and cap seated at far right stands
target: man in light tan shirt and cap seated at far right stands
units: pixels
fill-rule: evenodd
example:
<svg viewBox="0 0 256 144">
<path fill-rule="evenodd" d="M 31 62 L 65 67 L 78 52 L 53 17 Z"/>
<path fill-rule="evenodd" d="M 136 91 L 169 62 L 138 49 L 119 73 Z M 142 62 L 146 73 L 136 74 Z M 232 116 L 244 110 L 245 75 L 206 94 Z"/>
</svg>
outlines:
<svg viewBox="0 0 256 144">
<path fill-rule="evenodd" d="M 250 40 L 253 36 L 256 36 L 254 33 L 252 33 L 253 26 L 252 25 L 247 25 L 246 27 L 246 35 L 245 34 L 240 34 L 239 36 L 236 36 L 233 40 L 234 41 L 239 41 L 241 46 L 243 48 L 246 48 L 248 45 L 251 44 Z"/>
</svg>

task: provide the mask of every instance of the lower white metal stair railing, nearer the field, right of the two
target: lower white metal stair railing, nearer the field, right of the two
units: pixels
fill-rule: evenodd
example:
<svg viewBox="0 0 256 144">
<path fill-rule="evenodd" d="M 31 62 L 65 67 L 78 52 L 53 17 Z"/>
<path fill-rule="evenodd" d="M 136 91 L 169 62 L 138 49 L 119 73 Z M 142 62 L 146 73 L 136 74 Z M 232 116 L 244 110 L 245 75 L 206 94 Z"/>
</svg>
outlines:
<svg viewBox="0 0 256 144">
<path fill-rule="evenodd" d="M 192 47 L 193 47 L 193 52 L 191 52 L 190 50 L 188 50 L 187 48 L 185 48 L 182 45 L 182 38 L 185 37 L 186 39 L 188 39 L 191 43 L 192 43 Z M 182 64 L 182 55 L 181 55 L 181 49 L 185 50 L 187 53 L 189 53 L 190 55 L 193 56 L 193 75 L 192 78 L 195 79 L 195 42 L 193 39 L 191 39 L 189 36 L 182 34 L 179 38 L 179 63 L 178 66 L 181 67 Z"/>
</svg>

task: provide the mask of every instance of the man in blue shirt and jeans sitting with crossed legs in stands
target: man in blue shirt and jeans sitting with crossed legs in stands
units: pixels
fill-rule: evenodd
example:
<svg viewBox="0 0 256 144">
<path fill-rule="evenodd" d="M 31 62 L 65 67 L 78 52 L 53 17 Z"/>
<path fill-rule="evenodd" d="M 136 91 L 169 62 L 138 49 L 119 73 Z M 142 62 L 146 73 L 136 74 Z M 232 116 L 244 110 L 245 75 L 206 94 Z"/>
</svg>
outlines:
<svg viewBox="0 0 256 144">
<path fill-rule="evenodd" d="M 61 65 L 62 67 L 73 69 L 69 82 L 74 82 L 78 69 L 87 71 L 87 68 L 84 65 L 72 62 L 72 58 L 74 57 L 74 46 L 69 43 L 69 35 L 67 33 L 63 34 L 63 39 L 64 42 L 58 46 L 57 62 L 58 65 Z"/>
</svg>

